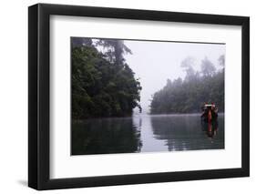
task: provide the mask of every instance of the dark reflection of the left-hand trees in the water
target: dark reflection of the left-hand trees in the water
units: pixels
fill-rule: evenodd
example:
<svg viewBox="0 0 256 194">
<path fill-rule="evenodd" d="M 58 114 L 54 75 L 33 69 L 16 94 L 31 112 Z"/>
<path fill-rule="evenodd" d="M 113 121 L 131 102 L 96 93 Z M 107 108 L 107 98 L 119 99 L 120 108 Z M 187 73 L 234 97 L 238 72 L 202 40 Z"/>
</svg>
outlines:
<svg viewBox="0 0 256 194">
<path fill-rule="evenodd" d="M 71 155 L 134 153 L 142 147 L 131 117 L 75 121 L 71 144 Z"/>
</svg>

